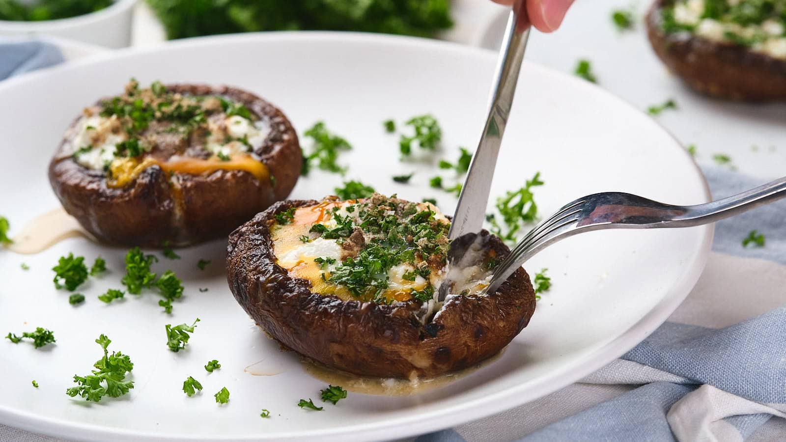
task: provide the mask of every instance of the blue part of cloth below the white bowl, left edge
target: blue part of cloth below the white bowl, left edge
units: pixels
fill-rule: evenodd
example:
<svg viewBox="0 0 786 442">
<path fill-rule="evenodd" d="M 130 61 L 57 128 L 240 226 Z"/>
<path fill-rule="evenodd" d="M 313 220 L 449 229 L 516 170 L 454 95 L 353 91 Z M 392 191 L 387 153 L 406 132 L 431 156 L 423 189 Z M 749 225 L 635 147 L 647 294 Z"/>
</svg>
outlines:
<svg viewBox="0 0 786 442">
<path fill-rule="evenodd" d="M 52 43 L 0 39 L 0 80 L 63 61 L 60 49 Z"/>
</svg>

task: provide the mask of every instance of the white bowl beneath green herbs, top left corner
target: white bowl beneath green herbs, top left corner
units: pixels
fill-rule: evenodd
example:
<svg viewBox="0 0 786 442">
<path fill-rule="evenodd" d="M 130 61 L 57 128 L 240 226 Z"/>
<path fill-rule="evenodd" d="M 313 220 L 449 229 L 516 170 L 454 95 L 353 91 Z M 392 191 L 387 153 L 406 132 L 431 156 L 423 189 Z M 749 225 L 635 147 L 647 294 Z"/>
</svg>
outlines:
<svg viewBox="0 0 786 442">
<path fill-rule="evenodd" d="M 0 20 L 0 36 L 53 35 L 112 48 L 129 46 L 136 0 L 117 0 L 105 9 L 46 21 Z"/>
</svg>

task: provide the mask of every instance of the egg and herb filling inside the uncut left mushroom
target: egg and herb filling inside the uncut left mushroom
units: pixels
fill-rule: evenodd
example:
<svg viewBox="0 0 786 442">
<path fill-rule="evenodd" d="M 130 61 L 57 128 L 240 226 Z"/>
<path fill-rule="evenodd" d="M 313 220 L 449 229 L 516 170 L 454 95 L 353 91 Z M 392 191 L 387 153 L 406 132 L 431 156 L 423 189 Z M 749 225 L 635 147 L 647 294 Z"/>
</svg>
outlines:
<svg viewBox="0 0 786 442">
<path fill-rule="evenodd" d="M 241 103 L 220 96 L 192 96 L 160 83 L 141 89 L 134 80 L 124 94 L 86 108 L 67 134 L 66 153 L 107 176 L 107 186 L 123 187 L 145 169 L 201 175 L 241 170 L 270 179 L 255 150 L 270 123 Z"/>
</svg>

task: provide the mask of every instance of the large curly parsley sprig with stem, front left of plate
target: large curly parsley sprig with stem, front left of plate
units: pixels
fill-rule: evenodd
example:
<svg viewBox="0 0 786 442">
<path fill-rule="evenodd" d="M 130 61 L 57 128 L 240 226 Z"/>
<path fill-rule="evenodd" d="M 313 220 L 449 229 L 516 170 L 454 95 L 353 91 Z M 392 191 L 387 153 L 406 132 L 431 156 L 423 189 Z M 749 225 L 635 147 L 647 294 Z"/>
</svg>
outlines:
<svg viewBox="0 0 786 442">
<path fill-rule="evenodd" d="M 134 381 L 126 381 L 126 374 L 134 369 L 134 363 L 128 355 L 121 352 L 112 352 L 112 355 L 109 355 L 107 347 L 111 342 L 103 334 L 98 337 L 96 343 L 104 349 L 104 357 L 94 363 L 96 370 L 91 370 L 92 374 L 74 376 L 74 382 L 78 386 L 67 389 L 65 393 L 68 396 L 80 396 L 85 400 L 99 402 L 104 396 L 123 396 L 134 388 Z"/>
</svg>

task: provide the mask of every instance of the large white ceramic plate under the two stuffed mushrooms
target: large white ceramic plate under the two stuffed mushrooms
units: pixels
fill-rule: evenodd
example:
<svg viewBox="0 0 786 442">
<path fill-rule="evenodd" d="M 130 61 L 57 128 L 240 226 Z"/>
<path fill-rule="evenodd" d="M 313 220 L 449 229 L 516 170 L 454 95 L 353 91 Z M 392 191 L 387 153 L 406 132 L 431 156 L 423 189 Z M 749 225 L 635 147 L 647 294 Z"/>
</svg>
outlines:
<svg viewBox="0 0 786 442">
<path fill-rule="evenodd" d="M 438 171 L 432 159 L 399 162 L 397 138 L 381 122 L 432 112 L 443 125 L 443 151 L 476 145 L 486 110 L 495 54 L 421 39 L 379 35 L 281 33 L 193 39 L 156 48 L 101 54 L 0 84 L 3 173 L 0 208 L 19 231 L 57 208 L 46 166 L 61 132 L 88 103 L 141 83 L 228 83 L 261 94 L 285 110 L 300 132 L 317 120 L 343 134 L 354 150 L 341 157 L 347 179 L 372 183 L 412 200 L 436 197 L 445 212 L 455 200 L 428 188 Z M 707 201 L 689 155 L 648 116 L 580 79 L 525 64 L 519 96 L 502 146 L 493 194 L 516 189 L 541 171 L 536 199 L 542 213 L 586 193 L 625 190 L 674 204 Z M 415 171 L 410 185 L 391 175 Z M 441 174 L 450 182 L 449 174 Z M 292 197 L 321 197 L 340 183 L 314 172 Z M 325 411 L 296 407 L 325 383 L 303 371 L 255 328 L 227 289 L 223 241 L 182 249 L 181 260 L 161 260 L 156 271 L 184 279 L 182 302 L 167 316 L 156 294 L 127 295 L 122 303 L 96 299 L 119 287 L 125 250 L 70 239 L 35 256 L 0 252 L 0 332 L 55 331 L 57 344 L 0 342 L 0 422 L 40 433 L 112 440 L 369 440 L 424 433 L 503 411 L 589 374 L 651 333 L 692 288 L 703 268 L 711 227 L 685 230 L 605 231 L 571 238 L 536 256 L 527 268 L 549 267 L 553 289 L 538 302 L 530 326 L 493 362 L 441 389 L 416 396 L 350 393 Z M 105 256 L 111 273 L 79 291 L 72 307 L 53 288 L 50 268 L 68 252 Z M 207 271 L 196 260 L 212 261 Z M 20 269 L 28 263 L 29 271 Z M 197 289 L 207 287 L 207 293 Z M 163 326 L 199 317 L 189 348 L 173 353 Z M 8 330 L 6 330 L 8 329 Z M 110 349 L 131 355 L 135 388 L 120 400 L 85 403 L 64 394 L 74 374 L 100 356 L 94 339 L 106 333 Z M 222 369 L 202 366 L 219 359 Z M 260 360 L 275 376 L 252 376 Z M 182 381 L 204 385 L 186 397 Z M 31 380 L 39 382 L 33 389 Z M 219 407 L 213 393 L 230 390 Z M 259 410 L 271 411 L 269 419 Z"/>
</svg>

